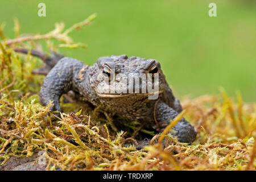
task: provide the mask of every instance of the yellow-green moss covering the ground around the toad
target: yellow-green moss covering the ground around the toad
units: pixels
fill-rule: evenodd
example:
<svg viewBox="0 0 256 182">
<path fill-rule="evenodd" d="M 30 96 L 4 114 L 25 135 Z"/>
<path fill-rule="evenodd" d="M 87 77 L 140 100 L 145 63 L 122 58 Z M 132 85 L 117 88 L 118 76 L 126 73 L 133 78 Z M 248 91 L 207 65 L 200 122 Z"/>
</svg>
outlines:
<svg viewBox="0 0 256 182">
<path fill-rule="evenodd" d="M 65 35 L 77 26 L 88 24 L 85 22 L 67 29 Z M 15 26 L 19 27 L 17 20 Z M 58 34 L 63 35 L 60 32 Z M 3 34 L 1 38 L 4 38 Z M 26 44 L 18 38 L 19 41 L 3 40 L 0 44 L 1 164 L 12 156 L 32 156 L 43 151 L 48 170 L 256 169 L 256 105 L 243 103 L 240 93 L 237 102 L 229 98 L 224 89 L 221 89 L 221 96 L 184 99 L 181 104 L 185 112 L 182 114 L 195 126 L 197 138 L 188 145 L 166 135 L 165 149 L 159 144 L 146 146 L 143 150 L 127 145 L 127 138 L 134 141 L 138 134 L 154 134 L 138 130 L 141 126 L 134 121 L 126 122 L 123 129 L 126 132 L 118 131 L 115 125 L 123 118 L 115 118 L 100 108 L 87 112 L 86 105 L 61 102 L 64 113 L 60 118 L 54 113 L 49 114 L 51 105 L 44 107 L 39 104 L 38 92 L 44 77 L 31 74 L 39 67 L 40 61 L 29 54 L 20 56 L 13 51 L 13 47 L 20 44 L 32 48 L 34 38 L 23 40 Z M 44 39 L 51 40 L 47 36 Z M 79 46 L 70 42 L 68 36 L 61 37 L 60 41 L 68 41 L 65 47 Z M 57 119 L 53 121 L 53 118 Z M 172 126 L 167 127 L 163 134 L 155 135 L 152 141 L 163 140 Z"/>
</svg>

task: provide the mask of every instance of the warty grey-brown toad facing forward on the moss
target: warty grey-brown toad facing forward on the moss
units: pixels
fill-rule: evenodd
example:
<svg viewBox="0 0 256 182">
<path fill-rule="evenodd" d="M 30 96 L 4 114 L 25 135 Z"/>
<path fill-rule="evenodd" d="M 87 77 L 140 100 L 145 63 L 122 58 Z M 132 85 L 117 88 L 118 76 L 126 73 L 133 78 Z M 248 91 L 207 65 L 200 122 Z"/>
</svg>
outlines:
<svg viewBox="0 0 256 182">
<path fill-rule="evenodd" d="M 146 80 L 145 80 L 146 78 Z M 61 111 L 59 99 L 73 90 L 94 106 L 162 132 L 182 110 L 158 61 L 141 57 L 101 57 L 92 66 L 64 57 L 44 79 L 40 101 Z M 173 128 L 180 142 L 192 143 L 196 131 L 184 118 Z"/>
</svg>

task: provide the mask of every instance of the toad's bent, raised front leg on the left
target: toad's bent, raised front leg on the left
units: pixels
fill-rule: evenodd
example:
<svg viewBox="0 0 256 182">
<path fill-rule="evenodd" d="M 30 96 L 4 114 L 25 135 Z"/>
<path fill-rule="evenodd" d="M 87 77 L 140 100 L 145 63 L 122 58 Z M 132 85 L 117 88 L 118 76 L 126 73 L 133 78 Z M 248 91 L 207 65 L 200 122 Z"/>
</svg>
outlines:
<svg viewBox="0 0 256 182">
<path fill-rule="evenodd" d="M 49 104 L 53 101 L 53 106 L 50 110 L 61 111 L 60 97 L 69 90 L 76 88 L 77 81 L 75 80 L 80 69 L 85 65 L 76 59 L 64 57 L 51 69 L 43 81 L 40 90 L 40 102 L 42 105 Z"/>
</svg>

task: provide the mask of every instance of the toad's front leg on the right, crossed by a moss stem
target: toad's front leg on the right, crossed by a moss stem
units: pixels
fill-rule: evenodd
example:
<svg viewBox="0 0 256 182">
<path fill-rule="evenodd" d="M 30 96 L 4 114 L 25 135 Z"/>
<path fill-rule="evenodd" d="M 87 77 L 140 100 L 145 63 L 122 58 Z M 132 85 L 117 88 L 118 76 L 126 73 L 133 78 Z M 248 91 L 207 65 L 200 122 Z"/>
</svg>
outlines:
<svg viewBox="0 0 256 182">
<path fill-rule="evenodd" d="M 160 132 L 162 132 L 177 115 L 178 113 L 174 109 L 160 101 L 156 107 L 156 120 L 159 123 Z M 196 138 L 194 127 L 184 118 L 182 118 L 172 129 L 176 131 L 176 133 L 172 133 L 172 135 L 177 136 L 179 142 L 192 143 Z"/>
</svg>

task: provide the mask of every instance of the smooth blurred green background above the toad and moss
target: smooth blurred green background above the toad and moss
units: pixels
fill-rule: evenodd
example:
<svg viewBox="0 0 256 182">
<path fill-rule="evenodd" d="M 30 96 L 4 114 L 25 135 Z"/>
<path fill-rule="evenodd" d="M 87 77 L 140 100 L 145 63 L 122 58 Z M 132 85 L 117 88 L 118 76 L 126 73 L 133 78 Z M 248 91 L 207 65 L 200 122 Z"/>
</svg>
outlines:
<svg viewBox="0 0 256 182">
<path fill-rule="evenodd" d="M 218 94 L 222 86 L 232 96 L 240 90 L 245 101 L 256 101 L 256 1 L 0 2 L 8 38 L 14 38 L 15 17 L 22 34 L 44 34 L 55 22 L 69 27 L 97 13 L 90 26 L 71 34 L 88 49 L 61 48 L 61 53 L 87 64 L 106 55 L 156 59 L 178 97 Z M 38 16 L 40 2 L 46 3 L 46 17 Z M 211 2 L 217 17 L 208 15 Z"/>
</svg>

